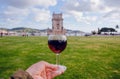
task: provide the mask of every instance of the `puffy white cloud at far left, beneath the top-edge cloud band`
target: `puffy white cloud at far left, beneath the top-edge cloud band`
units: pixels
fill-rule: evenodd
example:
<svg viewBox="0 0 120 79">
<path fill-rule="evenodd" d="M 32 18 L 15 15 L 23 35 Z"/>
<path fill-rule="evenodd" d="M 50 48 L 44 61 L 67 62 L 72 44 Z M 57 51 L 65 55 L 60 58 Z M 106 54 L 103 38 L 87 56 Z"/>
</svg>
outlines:
<svg viewBox="0 0 120 79">
<path fill-rule="evenodd" d="M 24 17 L 29 14 L 28 9 L 19 9 L 12 6 L 8 6 L 6 10 L 1 12 L 1 20 L 4 20 L 6 23 L 20 23 Z"/>
</svg>

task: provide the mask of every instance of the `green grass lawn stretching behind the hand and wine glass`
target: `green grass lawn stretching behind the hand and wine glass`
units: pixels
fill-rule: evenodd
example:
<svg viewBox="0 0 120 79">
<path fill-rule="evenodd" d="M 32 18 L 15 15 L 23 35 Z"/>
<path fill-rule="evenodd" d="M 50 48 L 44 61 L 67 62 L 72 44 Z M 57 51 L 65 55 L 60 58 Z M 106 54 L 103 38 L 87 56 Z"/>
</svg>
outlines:
<svg viewBox="0 0 120 79">
<path fill-rule="evenodd" d="M 47 37 L 0 38 L 0 79 L 44 60 L 55 64 Z M 65 73 L 55 79 L 120 79 L 120 37 L 68 37 L 60 55 Z"/>
</svg>

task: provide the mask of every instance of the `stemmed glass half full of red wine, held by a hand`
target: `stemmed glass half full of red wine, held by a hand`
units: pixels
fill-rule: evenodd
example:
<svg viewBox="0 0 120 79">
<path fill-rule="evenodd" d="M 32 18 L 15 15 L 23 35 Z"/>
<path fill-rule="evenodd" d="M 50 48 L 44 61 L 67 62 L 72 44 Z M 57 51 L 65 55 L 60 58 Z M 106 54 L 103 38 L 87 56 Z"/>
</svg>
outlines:
<svg viewBox="0 0 120 79">
<path fill-rule="evenodd" d="M 48 46 L 51 49 L 51 51 L 56 54 L 56 65 L 58 65 L 58 67 L 63 67 L 63 66 L 60 66 L 59 55 L 67 46 L 67 37 L 65 35 L 59 35 L 59 34 L 49 35 Z M 65 66 L 64 66 L 64 69 L 66 69 Z"/>
</svg>

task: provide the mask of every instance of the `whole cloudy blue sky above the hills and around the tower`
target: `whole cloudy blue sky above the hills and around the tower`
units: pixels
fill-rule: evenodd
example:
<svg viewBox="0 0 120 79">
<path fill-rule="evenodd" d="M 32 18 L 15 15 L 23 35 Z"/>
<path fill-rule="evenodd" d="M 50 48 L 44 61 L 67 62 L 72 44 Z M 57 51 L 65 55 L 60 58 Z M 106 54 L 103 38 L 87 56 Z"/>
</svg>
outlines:
<svg viewBox="0 0 120 79">
<path fill-rule="evenodd" d="M 53 13 L 63 14 L 65 29 L 115 28 L 120 26 L 119 7 L 120 0 L 0 0 L 0 28 L 52 28 Z"/>
</svg>

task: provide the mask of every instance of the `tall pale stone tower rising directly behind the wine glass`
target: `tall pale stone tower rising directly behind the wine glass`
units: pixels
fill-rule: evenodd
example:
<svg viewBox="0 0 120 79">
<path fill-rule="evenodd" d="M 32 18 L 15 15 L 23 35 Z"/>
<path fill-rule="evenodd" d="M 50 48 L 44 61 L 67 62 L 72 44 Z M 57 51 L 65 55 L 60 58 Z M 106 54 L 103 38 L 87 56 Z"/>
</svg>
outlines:
<svg viewBox="0 0 120 79">
<path fill-rule="evenodd" d="M 63 27 L 62 13 L 52 15 L 52 29 L 48 28 L 47 34 L 65 34 L 66 30 Z"/>
</svg>

